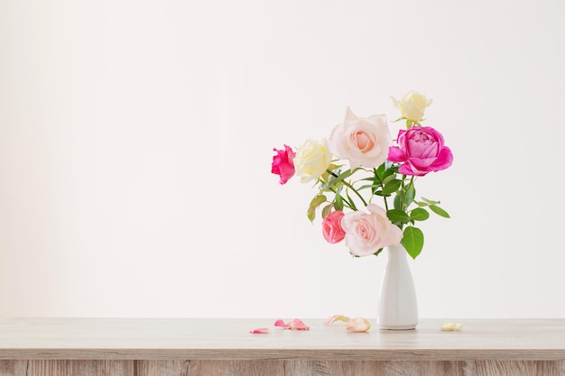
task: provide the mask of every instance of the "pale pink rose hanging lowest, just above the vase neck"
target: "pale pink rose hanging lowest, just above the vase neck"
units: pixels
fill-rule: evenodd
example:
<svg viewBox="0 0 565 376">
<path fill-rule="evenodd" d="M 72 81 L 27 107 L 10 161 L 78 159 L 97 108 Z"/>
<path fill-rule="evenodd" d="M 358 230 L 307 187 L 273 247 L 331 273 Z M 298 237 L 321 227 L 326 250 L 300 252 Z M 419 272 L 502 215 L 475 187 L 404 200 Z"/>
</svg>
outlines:
<svg viewBox="0 0 565 376">
<path fill-rule="evenodd" d="M 388 219 L 384 209 L 375 204 L 367 205 L 366 209 L 368 213 L 356 211 L 341 219 L 349 252 L 369 256 L 388 245 L 400 244 L 403 232 Z"/>
</svg>

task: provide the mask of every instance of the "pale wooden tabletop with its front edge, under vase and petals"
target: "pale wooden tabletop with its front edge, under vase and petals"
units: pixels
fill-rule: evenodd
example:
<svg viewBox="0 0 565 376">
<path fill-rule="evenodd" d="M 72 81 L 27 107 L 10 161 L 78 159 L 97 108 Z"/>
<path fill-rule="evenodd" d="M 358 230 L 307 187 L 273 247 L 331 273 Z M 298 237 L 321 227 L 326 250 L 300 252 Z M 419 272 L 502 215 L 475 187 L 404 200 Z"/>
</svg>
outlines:
<svg viewBox="0 0 565 376">
<path fill-rule="evenodd" d="M 366 333 L 302 320 L 310 330 L 274 318 L 0 318 L 0 359 L 565 360 L 564 318 L 460 319 L 453 332 L 442 319 L 407 331 L 373 320 Z M 270 333 L 249 333 L 258 327 Z"/>
</svg>

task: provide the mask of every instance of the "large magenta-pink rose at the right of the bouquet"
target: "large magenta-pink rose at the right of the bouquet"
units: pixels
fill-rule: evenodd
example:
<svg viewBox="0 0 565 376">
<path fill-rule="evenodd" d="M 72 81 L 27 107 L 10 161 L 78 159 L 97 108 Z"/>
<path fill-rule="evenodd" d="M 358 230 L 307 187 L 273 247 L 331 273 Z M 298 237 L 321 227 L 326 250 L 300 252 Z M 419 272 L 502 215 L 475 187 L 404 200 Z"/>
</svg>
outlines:
<svg viewBox="0 0 565 376">
<path fill-rule="evenodd" d="M 445 170 L 453 161 L 451 151 L 443 144 L 443 136 L 430 126 L 401 129 L 398 145 L 389 148 L 388 160 L 403 162 L 399 172 L 404 175 L 423 176 Z"/>
</svg>

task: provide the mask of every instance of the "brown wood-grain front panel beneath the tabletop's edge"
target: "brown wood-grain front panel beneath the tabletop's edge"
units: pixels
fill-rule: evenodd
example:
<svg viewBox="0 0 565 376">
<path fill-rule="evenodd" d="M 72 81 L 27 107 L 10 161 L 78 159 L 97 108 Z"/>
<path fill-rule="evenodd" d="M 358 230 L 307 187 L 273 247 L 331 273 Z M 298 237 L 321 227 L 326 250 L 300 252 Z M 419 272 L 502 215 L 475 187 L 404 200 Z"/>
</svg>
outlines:
<svg viewBox="0 0 565 376">
<path fill-rule="evenodd" d="M 0 361 L 0 376 L 565 376 L 565 361 Z"/>
</svg>

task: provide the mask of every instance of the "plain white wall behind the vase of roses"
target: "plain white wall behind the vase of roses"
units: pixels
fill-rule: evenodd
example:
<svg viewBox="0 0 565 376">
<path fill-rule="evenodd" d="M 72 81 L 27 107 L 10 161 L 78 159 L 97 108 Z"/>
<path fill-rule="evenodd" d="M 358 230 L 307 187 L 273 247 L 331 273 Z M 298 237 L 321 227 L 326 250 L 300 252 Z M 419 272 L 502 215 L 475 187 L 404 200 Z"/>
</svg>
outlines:
<svg viewBox="0 0 565 376">
<path fill-rule="evenodd" d="M 417 187 L 452 216 L 421 316 L 565 316 L 564 10 L 0 0 L 0 316 L 374 317 L 386 259 L 325 243 L 272 150 L 410 89 L 455 156 Z"/>
</svg>

